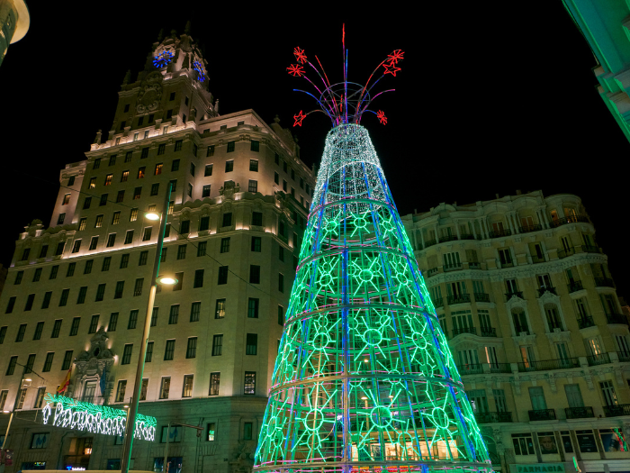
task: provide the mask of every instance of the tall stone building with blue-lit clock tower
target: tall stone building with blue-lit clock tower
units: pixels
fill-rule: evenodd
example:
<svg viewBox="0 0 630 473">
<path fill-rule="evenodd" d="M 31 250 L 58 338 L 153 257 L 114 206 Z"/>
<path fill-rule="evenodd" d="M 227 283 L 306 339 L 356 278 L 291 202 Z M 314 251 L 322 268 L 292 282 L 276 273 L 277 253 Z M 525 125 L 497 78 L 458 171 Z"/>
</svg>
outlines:
<svg viewBox="0 0 630 473">
<path fill-rule="evenodd" d="M 0 296 L 0 410 L 19 410 L 7 471 L 120 468 L 120 438 L 43 425 L 40 411 L 68 369 L 66 396 L 130 404 L 159 228 L 144 214 L 169 185 L 160 271 L 178 283 L 158 287 L 139 403 L 157 435 L 134 442 L 133 468 L 161 471 L 169 423 L 171 473 L 253 463 L 314 177 L 277 118 L 218 114 L 190 36 L 153 49 L 106 141 L 61 171 L 49 224 L 16 241 Z"/>
</svg>

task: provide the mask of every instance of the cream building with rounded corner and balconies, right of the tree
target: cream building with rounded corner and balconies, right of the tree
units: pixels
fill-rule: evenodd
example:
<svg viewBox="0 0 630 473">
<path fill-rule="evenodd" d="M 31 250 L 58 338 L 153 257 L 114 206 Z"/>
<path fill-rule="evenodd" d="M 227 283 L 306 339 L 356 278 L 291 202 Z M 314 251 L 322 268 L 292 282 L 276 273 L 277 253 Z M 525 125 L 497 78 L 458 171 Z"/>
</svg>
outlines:
<svg viewBox="0 0 630 473">
<path fill-rule="evenodd" d="M 518 192 L 402 221 L 493 467 L 627 471 L 628 322 L 580 197 Z"/>
</svg>

